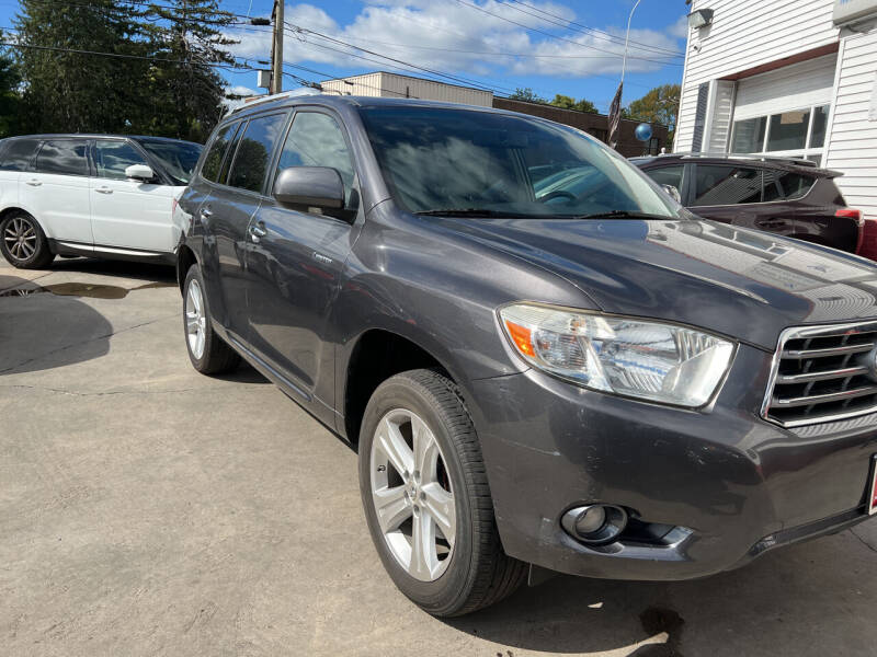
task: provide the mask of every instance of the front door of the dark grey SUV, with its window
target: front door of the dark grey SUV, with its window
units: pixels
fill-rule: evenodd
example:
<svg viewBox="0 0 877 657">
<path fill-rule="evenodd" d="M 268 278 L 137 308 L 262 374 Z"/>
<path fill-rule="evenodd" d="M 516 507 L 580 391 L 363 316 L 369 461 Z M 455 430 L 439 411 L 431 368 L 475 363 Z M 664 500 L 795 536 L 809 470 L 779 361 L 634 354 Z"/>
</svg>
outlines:
<svg viewBox="0 0 877 657">
<path fill-rule="evenodd" d="M 358 206 L 353 159 L 329 114 L 296 113 L 276 176 L 289 166 L 330 166 L 344 182 L 345 209 Z M 247 266 L 248 342 L 305 397 L 334 401 L 333 347 L 326 322 L 357 228 L 348 218 L 298 211 L 266 199 L 251 224 Z"/>
</svg>

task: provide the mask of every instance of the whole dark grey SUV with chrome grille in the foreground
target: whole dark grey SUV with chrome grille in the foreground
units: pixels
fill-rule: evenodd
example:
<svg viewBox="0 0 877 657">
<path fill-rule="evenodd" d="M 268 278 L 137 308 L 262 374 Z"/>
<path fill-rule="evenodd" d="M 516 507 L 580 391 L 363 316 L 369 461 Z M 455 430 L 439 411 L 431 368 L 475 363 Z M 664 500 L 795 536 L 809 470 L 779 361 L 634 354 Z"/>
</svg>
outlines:
<svg viewBox="0 0 877 657">
<path fill-rule="evenodd" d="M 875 509 L 877 268 L 699 220 L 578 130 L 264 101 L 178 212 L 192 364 L 244 358 L 358 450 L 378 555 L 430 613 L 538 567 L 709 575 Z"/>
</svg>

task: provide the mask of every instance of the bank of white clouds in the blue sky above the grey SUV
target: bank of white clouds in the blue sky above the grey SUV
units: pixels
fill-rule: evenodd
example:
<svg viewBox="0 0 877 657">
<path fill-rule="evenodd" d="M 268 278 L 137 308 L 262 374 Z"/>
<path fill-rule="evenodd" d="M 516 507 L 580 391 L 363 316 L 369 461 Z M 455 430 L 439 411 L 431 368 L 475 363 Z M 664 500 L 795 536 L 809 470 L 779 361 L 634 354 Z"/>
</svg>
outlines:
<svg viewBox="0 0 877 657">
<path fill-rule="evenodd" d="M 475 4 L 481 11 L 467 4 Z M 540 14 L 536 10 L 546 13 Z M 487 84 L 492 84 L 491 74 L 589 77 L 617 74 L 620 71 L 623 27 L 611 25 L 600 26 L 604 32 L 571 32 L 539 19 L 562 23 L 547 13 L 584 23 L 584 20 L 577 19 L 572 9 L 556 2 L 512 4 L 497 0 L 369 0 L 353 22 L 346 25 L 340 25 L 312 4 L 286 5 L 286 21 L 291 24 L 423 68 L 459 71 L 463 77 L 477 76 Z M 528 31 L 525 26 L 550 32 L 562 36 L 565 41 Z M 270 28 L 262 30 L 264 32 L 261 33 L 236 33 L 234 36 L 241 43 L 232 47 L 232 51 L 244 57 L 267 59 L 271 33 Z M 647 72 L 659 70 L 667 61 L 681 64 L 682 59 L 673 58 L 670 50 L 682 50 L 679 39 L 687 33 L 683 30 L 684 16 L 660 31 L 631 30 L 627 70 Z M 296 35 L 287 32 L 284 43 L 287 62 L 305 62 L 317 70 L 319 64 L 366 70 L 397 68 L 397 65 L 380 57 L 357 51 L 356 55 L 377 60 L 366 61 L 352 57 L 349 51 L 350 48 L 342 44 L 306 32 Z M 419 71 L 409 72 L 418 74 Z M 314 79 L 312 73 L 301 72 L 301 76 Z"/>
</svg>

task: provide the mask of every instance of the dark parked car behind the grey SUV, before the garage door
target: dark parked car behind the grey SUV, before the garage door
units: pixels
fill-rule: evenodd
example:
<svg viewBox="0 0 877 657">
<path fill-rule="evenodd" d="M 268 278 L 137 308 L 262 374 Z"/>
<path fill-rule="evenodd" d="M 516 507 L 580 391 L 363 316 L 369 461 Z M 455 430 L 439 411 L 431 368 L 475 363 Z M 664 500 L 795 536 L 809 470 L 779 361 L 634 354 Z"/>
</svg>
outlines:
<svg viewBox="0 0 877 657">
<path fill-rule="evenodd" d="M 861 253 L 865 222 L 846 207 L 836 171 L 808 160 L 708 153 L 630 161 L 679 189 L 682 205 L 699 217 Z"/>
</svg>

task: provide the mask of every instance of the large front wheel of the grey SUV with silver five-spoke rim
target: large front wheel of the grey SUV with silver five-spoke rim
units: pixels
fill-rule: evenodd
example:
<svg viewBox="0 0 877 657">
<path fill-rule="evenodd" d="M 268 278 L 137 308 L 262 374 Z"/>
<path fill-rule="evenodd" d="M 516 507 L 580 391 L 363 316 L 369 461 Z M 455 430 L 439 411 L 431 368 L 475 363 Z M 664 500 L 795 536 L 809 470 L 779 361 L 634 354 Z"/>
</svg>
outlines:
<svg viewBox="0 0 877 657">
<path fill-rule="evenodd" d="M 493 604 L 523 581 L 493 518 L 481 449 L 456 385 L 433 370 L 381 383 L 360 434 L 360 491 L 396 586 L 436 616 Z"/>
</svg>

